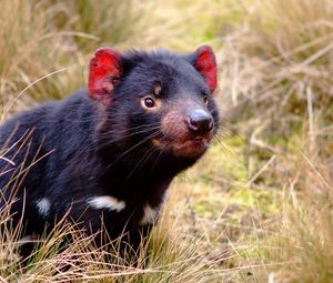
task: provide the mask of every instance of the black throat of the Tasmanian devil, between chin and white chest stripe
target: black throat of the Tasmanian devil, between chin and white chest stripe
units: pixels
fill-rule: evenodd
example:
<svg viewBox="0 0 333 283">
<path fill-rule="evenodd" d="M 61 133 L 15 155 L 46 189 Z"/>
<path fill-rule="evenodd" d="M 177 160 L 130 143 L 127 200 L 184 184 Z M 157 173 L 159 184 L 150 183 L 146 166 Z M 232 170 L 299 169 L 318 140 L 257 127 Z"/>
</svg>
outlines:
<svg viewBox="0 0 333 283">
<path fill-rule="evenodd" d="M 124 154 L 118 146 L 99 152 L 103 169 L 99 182 L 105 193 L 131 203 L 159 205 L 172 179 L 195 162 L 143 149 Z"/>
</svg>

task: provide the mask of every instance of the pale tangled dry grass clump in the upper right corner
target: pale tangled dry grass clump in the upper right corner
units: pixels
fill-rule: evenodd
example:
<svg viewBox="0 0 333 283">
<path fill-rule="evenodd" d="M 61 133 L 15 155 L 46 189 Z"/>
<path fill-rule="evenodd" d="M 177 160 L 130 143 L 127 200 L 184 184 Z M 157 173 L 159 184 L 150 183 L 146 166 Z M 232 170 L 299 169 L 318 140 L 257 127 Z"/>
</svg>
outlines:
<svg viewBox="0 0 333 283">
<path fill-rule="evenodd" d="M 224 37 L 222 55 L 221 80 L 240 110 L 234 120 L 251 119 L 265 135 L 287 139 L 306 121 L 311 103 L 316 117 L 332 122 L 332 1 L 241 4 L 243 22 Z"/>
</svg>

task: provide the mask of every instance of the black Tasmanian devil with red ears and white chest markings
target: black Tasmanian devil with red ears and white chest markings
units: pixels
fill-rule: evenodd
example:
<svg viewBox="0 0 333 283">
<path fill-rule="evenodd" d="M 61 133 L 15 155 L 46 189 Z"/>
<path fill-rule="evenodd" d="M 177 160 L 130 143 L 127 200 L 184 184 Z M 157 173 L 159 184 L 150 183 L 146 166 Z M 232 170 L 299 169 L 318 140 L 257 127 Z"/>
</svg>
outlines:
<svg viewBox="0 0 333 283">
<path fill-rule="evenodd" d="M 88 90 L 0 128 L 0 209 L 11 203 L 22 236 L 65 218 L 138 245 L 172 179 L 216 132 L 215 87 L 209 46 L 186 54 L 99 49 Z"/>
</svg>

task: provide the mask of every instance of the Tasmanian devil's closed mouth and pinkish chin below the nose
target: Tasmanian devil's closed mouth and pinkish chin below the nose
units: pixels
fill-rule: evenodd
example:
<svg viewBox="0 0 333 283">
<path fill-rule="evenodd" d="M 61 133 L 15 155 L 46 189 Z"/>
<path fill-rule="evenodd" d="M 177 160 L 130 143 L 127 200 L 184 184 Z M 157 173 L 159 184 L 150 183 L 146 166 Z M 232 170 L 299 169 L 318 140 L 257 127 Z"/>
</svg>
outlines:
<svg viewBox="0 0 333 283">
<path fill-rule="evenodd" d="M 208 149 L 210 140 L 210 138 L 194 137 L 173 141 L 155 139 L 152 142 L 160 150 L 169 151 L 174 156 L 199 158 Z"/>
</svg>

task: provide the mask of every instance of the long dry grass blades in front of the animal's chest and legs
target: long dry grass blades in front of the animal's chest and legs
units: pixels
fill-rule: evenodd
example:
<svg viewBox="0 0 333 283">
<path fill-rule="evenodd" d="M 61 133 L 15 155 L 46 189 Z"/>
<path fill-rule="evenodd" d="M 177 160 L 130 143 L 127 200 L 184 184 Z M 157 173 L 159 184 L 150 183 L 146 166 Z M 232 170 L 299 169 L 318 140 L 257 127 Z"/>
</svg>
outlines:
<svg viewBox="0 0 333 283">
<path fill-rule="evenodd" d="M 11 228 L 10 205 L 0 216 L 1 282 L 224 282 L 238 272 L 221 269 L 232 257 L 230 252 L 210 257 L 202 239 L 189 235 L 180 223 L 183 219 L 170 222 L 168 213 L 142 244 L 138 262 L 132 262 L 118 255 L 117 240 L 114 250 L 95 249 L 92 236 L 64 219 L 43 237 L 22 239 L 22 226 Z M 34 251 L 22 265 L 18 251 L 24 243 L 33 243 Z"/>
</svg>

